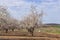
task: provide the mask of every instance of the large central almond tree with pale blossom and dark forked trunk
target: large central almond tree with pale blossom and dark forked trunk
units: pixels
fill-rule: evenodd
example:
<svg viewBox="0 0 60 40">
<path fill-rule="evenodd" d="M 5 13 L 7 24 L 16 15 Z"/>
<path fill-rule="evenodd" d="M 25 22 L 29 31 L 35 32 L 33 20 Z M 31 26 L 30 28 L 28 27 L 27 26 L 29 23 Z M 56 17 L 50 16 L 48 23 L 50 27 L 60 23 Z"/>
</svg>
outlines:
<svg viewBox="0 0 60 40">
<path fill-rule="evenodd" d="M 43 13 L 38 13 L 36 8 L 34 6 L 31 6 L 30 14 L 24 17 L 24 21 L 23 21 L 25 24 L 24 26 L 32 34 L 32 36 L 33 36 L 34 28 L 38 27 L 38 22 L 39 22 L 39 19 L 42 17 L 42 15 Z M 40 24 L 42 24 L 42 21 L 40 22 Z"/>
</svg>

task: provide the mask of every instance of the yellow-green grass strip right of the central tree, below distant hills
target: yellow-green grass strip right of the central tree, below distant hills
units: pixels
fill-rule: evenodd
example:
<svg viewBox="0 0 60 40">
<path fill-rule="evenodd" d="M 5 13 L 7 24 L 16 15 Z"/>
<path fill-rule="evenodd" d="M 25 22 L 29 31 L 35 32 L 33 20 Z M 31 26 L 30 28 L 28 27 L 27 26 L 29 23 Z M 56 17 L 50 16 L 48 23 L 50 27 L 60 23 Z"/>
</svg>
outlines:
<svg viewBox="0 0 60 40">
<path fill-rule="evenodd" d="M 60 26 L 52 26 L 52 27 L 47 27 L 47 28 L 42 27 L 42 28 L 35 29 L 34 32 L 38 32 L 39 30 L 45 33 L 60 34 Z"/>
</svg>

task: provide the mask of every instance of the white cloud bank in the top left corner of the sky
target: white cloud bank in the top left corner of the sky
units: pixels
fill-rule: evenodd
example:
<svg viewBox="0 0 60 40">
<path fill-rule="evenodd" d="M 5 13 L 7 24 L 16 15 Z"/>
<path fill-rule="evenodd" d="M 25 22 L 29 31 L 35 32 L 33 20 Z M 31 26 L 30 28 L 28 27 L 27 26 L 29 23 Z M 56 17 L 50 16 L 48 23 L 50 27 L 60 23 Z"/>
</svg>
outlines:
<svg viewBox="0 0 60 40">
<path fill-rule="evenodd" d="M 0 0 L 1 5 L 7 6 L 19 6 L 22 5 L 24 2 L 22 0 Z"/>
</svg>

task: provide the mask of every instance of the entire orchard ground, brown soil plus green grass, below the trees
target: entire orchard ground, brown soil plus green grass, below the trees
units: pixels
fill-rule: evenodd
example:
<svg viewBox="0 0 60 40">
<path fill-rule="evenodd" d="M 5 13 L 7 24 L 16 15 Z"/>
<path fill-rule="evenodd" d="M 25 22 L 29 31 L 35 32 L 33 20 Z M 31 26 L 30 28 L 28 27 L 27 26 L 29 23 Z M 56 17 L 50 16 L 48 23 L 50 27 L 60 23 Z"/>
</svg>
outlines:
<svg viewBox="0 0 60 40">
<path fill-rule="evenodd" d="M 60 27 L 35 28 L 33 36 L 26 30 L 0 31 L 1 40 L 60 40 Z"/>
</svg>

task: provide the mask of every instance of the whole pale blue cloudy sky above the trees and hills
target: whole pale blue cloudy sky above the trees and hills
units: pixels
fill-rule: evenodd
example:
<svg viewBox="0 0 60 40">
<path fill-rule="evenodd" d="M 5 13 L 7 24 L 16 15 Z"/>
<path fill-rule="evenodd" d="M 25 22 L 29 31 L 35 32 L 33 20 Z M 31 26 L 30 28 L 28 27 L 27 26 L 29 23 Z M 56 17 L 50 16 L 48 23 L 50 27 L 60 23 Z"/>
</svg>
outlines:
<svg viewBox="0 0 60 40">
<path fill-rule="evenodd" d="M 17 19 L 29 13 L 31 4 L 36 6 L 38 12 L 43 10 L 44 23 L 60 23 L 60 0 L 0 0 L 0 5 L 8 7 Z"/>
</svg>

